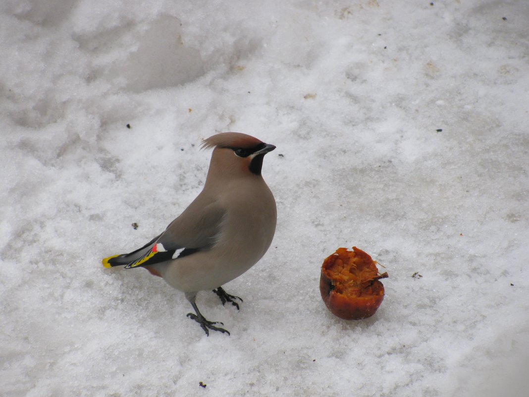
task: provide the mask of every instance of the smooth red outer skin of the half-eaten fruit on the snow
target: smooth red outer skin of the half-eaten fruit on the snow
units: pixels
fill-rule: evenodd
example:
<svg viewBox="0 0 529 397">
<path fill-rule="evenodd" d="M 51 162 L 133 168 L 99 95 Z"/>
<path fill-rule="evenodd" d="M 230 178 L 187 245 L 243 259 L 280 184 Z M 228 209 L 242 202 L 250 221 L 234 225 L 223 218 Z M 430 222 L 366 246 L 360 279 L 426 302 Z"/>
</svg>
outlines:
<svg viewBox="0 0 529 397">
<path fill-rule="evenodd" d="M 361 320 L 371 317 L 384 300 L 384 285 L 378 280 L 371 284 L 372 294 L 348 297 L 334 291 L 333 282 L 325 276 L 323 269 L 320 276 L 320 292 L 327 309 L 344 320 Z"/>
</svg>

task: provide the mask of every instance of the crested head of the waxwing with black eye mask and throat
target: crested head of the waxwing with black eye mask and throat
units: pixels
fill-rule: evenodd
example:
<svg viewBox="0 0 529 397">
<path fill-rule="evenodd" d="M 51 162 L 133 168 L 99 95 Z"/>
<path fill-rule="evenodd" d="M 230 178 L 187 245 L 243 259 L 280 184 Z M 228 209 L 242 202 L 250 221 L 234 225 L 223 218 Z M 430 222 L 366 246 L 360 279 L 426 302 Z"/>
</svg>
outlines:
<svg viewBox="0 0 529 397">
<path fill-rule="evenodd" d="M 204 149 L 214 148 L 209 175 L 261 175 L 263 157 L 275 149 L 247 134 L 223 132 L 202 141 Z"/>
</svg>

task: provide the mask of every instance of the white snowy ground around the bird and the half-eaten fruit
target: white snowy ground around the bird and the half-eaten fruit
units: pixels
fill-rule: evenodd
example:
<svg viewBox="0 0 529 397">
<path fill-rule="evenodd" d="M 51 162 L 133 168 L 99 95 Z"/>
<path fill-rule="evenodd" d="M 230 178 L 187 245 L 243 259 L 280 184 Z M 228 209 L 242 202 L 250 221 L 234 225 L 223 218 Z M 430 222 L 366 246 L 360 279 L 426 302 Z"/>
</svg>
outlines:
<svg viewBox="0 0 529 397">
<path fill-rule="evenodd" d="M 0 394 L 525 396 L 528 20 L 525 0 L 3 0 Z M 225 286 L 240 312 L 198 295 L 232 332 L 206 337 L 182 293 L 101 258 L 193 200 L 222 131 L 278 147 L 278 228 Z M 318 282 L 353 245 L 390 278 L 348 322 Z"/>
</svg>

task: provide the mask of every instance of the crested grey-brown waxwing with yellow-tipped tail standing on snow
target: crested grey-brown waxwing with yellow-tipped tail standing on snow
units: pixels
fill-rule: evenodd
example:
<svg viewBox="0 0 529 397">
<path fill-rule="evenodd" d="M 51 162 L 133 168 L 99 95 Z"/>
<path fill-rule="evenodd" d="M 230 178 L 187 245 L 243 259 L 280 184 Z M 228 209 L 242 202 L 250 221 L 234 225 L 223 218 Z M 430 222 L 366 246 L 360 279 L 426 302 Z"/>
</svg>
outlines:
<svg viewBox="0 0 529 397">
<path fill-rule="evenodd" d="M 248 134 L 223 132 L 202 141 L 213 149 L 203 190 L 168 227 L 129 254 L 102 260 L 103 266 L 144 267 L 185 293 L 195 313 L 187 317 L 209 330 L 230 332 L 208 321 L 196 295 L 212 290 L 222 304 L 239 310 L 242 299 L 222 285 L 239 277 L 267 252 L 276 231 L 276 200 L 261 175 L 263 157 L 275 146 Z"/>
</svg>

